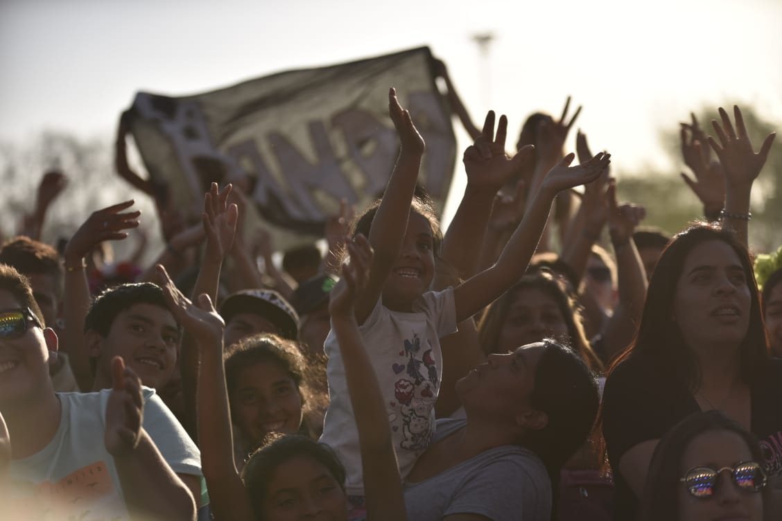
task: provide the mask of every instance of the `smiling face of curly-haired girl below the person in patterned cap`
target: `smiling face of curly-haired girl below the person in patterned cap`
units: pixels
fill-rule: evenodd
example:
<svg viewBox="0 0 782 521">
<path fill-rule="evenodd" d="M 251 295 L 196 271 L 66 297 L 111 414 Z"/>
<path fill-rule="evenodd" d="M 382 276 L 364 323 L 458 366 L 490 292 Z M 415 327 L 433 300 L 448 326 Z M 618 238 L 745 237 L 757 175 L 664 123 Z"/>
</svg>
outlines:
<svg viewBox="0 0 782 521">
<path fill-rule="evenodd" d="M 276 362 L 257 362 L 239 370 L 231 389 L 233 421 L 255 447 L 267 434 L 296 434 L 302 398 L 296 382 Z"/>
</svg>

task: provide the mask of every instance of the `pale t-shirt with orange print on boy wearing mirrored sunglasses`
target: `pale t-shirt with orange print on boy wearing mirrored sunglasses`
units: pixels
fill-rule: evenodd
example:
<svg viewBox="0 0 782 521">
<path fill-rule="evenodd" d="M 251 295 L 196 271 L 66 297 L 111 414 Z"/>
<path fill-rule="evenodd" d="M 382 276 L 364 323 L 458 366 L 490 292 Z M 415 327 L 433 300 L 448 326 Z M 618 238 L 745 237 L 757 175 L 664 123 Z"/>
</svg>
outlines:
<svg viewBox="0 0 782 521">
<path fill-rule="evenodd" d="M 163 459 L 174 473 L 201 476 L 195 443 L 154 390 L 142 391 L 144 430 Z M 15 519 L 130 519 L 120 477 L 103 441 L 110 394 L 110 389 L 57 394 L 62 412 L 52 441 L 36 454 L 11 462 L 10 508 L 23 516 Z"/>
</svg>

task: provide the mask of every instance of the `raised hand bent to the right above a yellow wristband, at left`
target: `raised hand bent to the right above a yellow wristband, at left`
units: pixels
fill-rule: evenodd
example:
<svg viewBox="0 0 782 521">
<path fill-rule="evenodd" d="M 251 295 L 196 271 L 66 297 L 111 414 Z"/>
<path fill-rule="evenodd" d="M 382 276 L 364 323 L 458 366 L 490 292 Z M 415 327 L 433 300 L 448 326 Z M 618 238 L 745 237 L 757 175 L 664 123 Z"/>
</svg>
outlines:
<svg viewBox="0 0 782 521">
<path fill-rule="evenodd" d="M 141 212 L 122 212 L 133 205 L 133 201 L 96 210 L 81 224 L 65 247 L 66 266 L 77 266 L 95 246 L 103 241 L 121 241 L 127 237 L 123 230 L 138 227 Z"/>
</svg>

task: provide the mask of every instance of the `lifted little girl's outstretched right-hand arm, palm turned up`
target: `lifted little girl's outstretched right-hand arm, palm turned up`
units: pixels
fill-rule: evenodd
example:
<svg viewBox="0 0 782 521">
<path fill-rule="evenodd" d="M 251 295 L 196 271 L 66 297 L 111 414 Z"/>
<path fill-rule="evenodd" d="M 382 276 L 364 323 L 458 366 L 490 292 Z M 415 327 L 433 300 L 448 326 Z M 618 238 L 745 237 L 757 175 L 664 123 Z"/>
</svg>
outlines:
<svg viewBox="0 0 782 521">
<path fill-rule="evenodd" d="M 569 166 L 575 157 L 575 154 L 566 155 L 547 174 L 533 198 L 532 205 L 529 205 L 522 223 L 518 225 L 508 245 L 500 254 L 500 258 L 497 259 L 497 264 L 454 290 L 458 321 L 474 315 L 475 312 L 493 302 L 519 277 L 522 277 L 540 241 L 540 234 L 546 226 L 554 197 L 563 190 L 597 179 L 608 166 L 611 156 L 600 153 L 582 165 Z"/>
</svg>

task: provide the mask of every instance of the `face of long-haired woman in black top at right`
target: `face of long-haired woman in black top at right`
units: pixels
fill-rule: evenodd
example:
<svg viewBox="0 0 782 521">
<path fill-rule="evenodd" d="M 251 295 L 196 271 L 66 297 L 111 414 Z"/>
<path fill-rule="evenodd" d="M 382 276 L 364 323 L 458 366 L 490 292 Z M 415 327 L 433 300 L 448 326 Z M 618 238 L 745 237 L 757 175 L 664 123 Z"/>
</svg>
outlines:
<svg viewBox="0 0 782 521">
<path fill-rule="evenodd" d="M 676 282 L 673 316 L 696 351 L 738 348 L 747 335 L 751 309 L 748 280 L 734 249 L 723 241 L 696 245 Z"/>
</svg>

